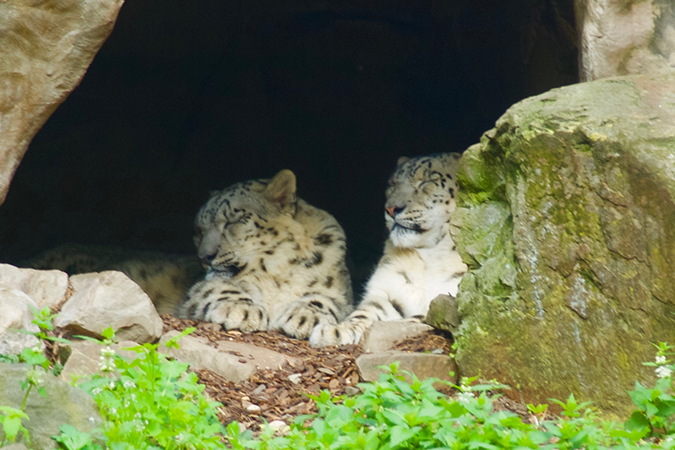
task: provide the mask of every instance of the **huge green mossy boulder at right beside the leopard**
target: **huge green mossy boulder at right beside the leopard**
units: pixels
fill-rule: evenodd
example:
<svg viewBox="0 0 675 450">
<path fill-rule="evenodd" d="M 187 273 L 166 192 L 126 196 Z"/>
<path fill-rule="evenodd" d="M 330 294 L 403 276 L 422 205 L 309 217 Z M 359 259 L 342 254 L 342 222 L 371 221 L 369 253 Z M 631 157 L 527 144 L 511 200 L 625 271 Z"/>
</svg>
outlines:
<svg viewBox="0 0 675 450">
<path fill-rule="evenodd" d="M 462 375 L 620 416 L 675 342 L 675 72 L 526 99 L 462 157 Z M 517 398 L 516 398 L 517 397 Z"/>
</svg>

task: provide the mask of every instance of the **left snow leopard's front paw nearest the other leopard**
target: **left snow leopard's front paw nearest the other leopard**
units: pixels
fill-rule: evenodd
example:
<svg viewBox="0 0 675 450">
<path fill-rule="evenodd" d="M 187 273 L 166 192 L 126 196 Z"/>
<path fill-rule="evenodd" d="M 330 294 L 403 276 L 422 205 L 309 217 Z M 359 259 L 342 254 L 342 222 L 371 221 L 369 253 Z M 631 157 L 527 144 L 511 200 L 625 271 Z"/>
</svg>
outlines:
<svg viewBox="0 0 675 450">
<path fill-rule="evenodd" d="M 273 317 L 271 328 L 297 339 L 307 339 L 317 327 L 337 324 L 346 314 L 344 309 L 329 296 L 306 294 Z"/>
</svg>

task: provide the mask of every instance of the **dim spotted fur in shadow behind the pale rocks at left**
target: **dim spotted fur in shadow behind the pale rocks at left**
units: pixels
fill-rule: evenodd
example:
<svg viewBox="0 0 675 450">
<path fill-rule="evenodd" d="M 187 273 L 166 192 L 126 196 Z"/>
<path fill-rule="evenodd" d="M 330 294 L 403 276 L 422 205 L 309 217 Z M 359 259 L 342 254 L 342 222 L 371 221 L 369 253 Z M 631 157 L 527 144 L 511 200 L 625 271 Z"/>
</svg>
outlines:
<svg viewBox="0 0 675 450">
<path fill-rule="evenodd" d="M 199 259 L 104 245 L 63 244 L 19 264 L 69 275 L 104 270 L 126 274 L 150 297 L 159 313 L 175 314 L 188 289 L 204 276 Z"/>
</svg>

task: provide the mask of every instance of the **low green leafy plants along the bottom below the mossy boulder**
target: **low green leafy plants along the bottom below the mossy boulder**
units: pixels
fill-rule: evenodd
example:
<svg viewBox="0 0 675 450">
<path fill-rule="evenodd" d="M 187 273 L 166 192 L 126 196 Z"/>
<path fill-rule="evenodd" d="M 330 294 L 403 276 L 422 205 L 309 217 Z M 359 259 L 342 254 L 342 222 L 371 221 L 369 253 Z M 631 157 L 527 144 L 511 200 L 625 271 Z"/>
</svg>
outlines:
<svg viewBox="0 0 675 450">
<path fill-rule="evenodd" d="M 658 416 L 653 409 L 649 413 L 636 411 L 644 415 L 641 423 L 632 420 L 617 424 L 600 421 L 589 403 L 577 403 L 570 395 L 566 403 L 556 401 L 563 409 L 562 417 L 540 421 L 546 405 L 528 405 L 534 423 L 526 423 L 514 413 L 493 409 L 492 399 L 496 397 L 489 397 L 487 391 L 498 386 L 464 383 L 455 386 L 460 392 L 452 399 L 434 389 L 433 383 L 438 380 L 419 381 L 409 374 L 412 383 L 407 383 L 396 365 L 389 372 L 377 383 L 361 384 L 363 392 L 356 397 L 331 398 L 327 391 L 312 397 L 319 413 L 310 425 L 306 423 L 312 417 L 298 417 L 283 434 L 267 427 L 254 439 L 250 431 L 241 432 L 233 423 L 227 427 L 226 437 L 234 449 L 260 450 L 675 447 L 670 437 L 672 428 L 657 430 L 644 415 L 651 414 L 652 419 Z M 661 391 L 651 391 L 652 399 L 662 395 Z"/>
</svg>

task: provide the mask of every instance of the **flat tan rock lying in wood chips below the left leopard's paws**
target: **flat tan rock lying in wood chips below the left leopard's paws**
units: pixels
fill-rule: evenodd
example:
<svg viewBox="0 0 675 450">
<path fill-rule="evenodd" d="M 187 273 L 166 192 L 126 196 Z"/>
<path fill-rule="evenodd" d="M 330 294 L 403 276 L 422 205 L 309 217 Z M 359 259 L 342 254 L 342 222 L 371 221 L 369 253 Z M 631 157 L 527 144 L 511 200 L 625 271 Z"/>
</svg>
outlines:
<svg viewBox="0 0 675 450">
<path fill-rule="evenodd" d="M 177 331 L 170 331 L 162 336 L 160 342 L 166 342 L 177 334 Z M 167 353 L 170 356 L 189 363 L 193 369 L 208 369 L 234 382 L 248 379 L 258 369 L 283 367 L 289 359 L 296 365 L 301 362 L 298 358 L 241 342 L 221 341 L 214 347 L 205 338 L 185 336 L 178 344 L 180 349 L 169 349 Z"/>
</svg>

